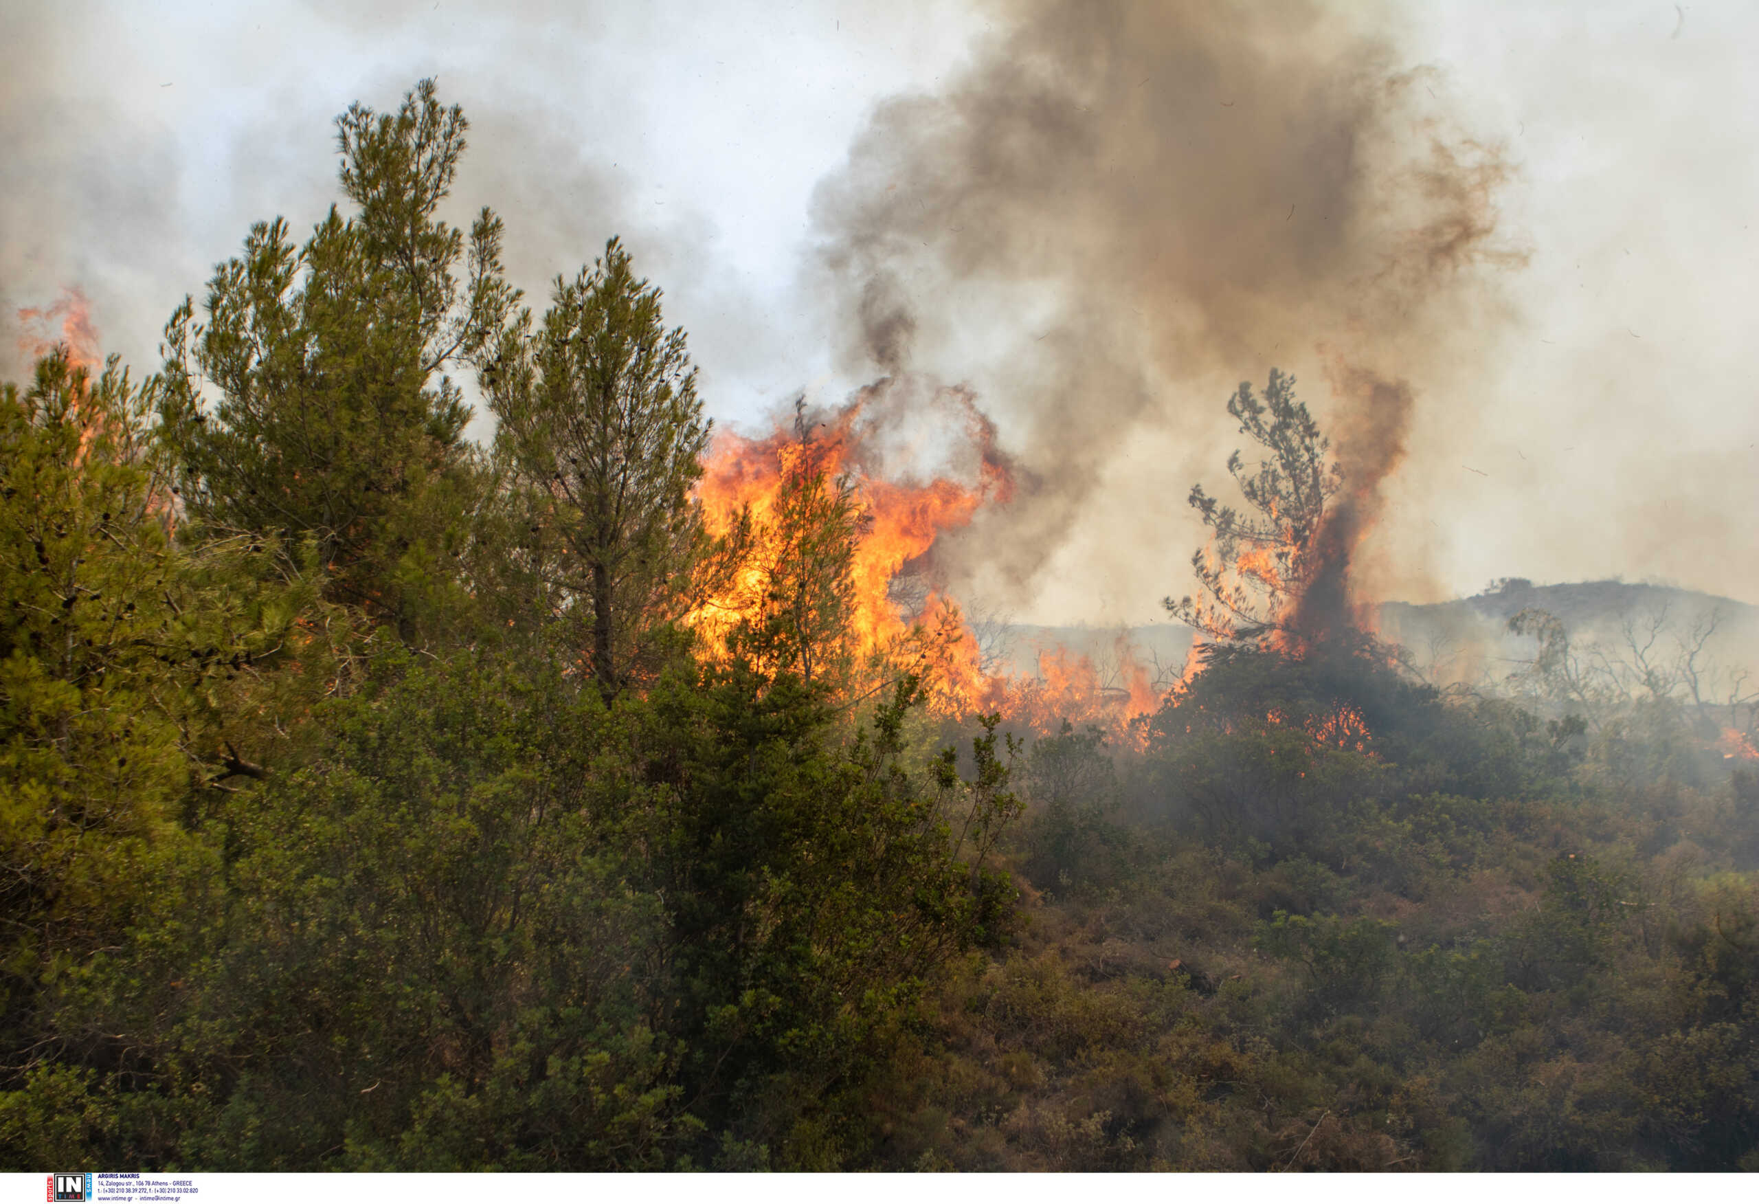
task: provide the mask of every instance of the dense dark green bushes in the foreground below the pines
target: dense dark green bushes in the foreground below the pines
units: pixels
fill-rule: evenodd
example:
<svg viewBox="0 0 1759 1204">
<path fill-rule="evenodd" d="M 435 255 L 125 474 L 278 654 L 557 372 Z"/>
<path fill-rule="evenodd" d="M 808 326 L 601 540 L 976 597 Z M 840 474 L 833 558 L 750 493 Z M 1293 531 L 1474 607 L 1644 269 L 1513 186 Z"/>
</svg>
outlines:
<svg viewBox="0 0 1759 1204">
<path fill-rule="evenodd" d="M 823 692 L 691 671 L 607 708 L 554 671 L 378 664 L 206 877 L 51 993 L 14 1156 L 227 1169 L 843 1165 L 844 1095 L 1006 924 L 1011 811 L 850 743 Z M 957 822 L 959 827 L 952 827 Z M 158 898 L 151 898 L 153 892 Z M 104 1031 L 79 1047 L 81 1031 Z M 83 1067 L 69 1074 L 69 1067 Z M 83 1134 L 30 1149 L 58 1093 Z M 77 1107 L 74 1105 L 77 1102 Z"/>
</svg>

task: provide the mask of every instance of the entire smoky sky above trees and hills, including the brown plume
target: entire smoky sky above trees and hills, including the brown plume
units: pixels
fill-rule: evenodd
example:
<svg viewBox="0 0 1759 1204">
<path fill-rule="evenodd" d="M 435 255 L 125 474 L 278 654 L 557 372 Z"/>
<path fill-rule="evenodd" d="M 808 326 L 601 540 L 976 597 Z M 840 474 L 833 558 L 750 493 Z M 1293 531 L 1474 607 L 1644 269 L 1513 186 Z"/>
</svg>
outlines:
<svg viewBox="0 0 1759 1204">
<path fill-rule="evenodd" d="M 718 421 L 971 385 L 1033 484 L 945 547 L 974 602 L 1152 620 L 1270 366 L 1377 482 L 1376 591 L 1759 598 L 1759 19 L 1680 12 L 7 5 L 0 306 L 77 287 L 151 370 L 250 222 L 338 199 L 334 114 L 436 76 L 459 217 L 503 215 L 535 305 L 621 234 Z"/>
</svg>

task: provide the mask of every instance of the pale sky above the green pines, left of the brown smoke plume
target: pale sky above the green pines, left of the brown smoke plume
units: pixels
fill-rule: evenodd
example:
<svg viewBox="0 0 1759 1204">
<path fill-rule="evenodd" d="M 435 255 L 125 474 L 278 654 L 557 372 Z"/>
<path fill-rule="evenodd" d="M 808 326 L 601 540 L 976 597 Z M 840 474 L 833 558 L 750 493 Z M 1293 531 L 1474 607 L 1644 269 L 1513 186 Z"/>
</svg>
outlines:
<svg viewBox="0 0 1759 1204">
<path fill-rule="evenodd" d="M 171 310 L 252 222 L 281 215 L 303 236 L 341 199 L 336 114 L 394 109 L 433 76 L 471 123 L 450 217 L 503 215 L 528 299 L 542 308 L 617 234 L 690 329 L 718 417 L 755 412 L 828 359 L 792 320 L 806 192 L 867 93 L 962 37 L 938 39 L 957 21 L 916 7 L 0 7 L 16 60 L 0 77 L 0 315 L 79 287 L 106 345 L 151 370 Z M 5 377 L 25 366 L 16 343 L 0 338 Z"/>
</svg>

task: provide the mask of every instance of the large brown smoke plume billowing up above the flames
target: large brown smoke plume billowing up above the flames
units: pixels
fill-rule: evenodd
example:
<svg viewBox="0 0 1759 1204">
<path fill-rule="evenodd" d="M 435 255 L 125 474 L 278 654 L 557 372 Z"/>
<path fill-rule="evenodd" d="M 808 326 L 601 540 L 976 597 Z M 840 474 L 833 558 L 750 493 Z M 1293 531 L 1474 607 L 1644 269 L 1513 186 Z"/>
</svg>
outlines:
<svg viewBox="0 0 1759 1204">
<path fill-rule="evenodd" d="M 1106 474 L 1149 435 L 1191 449 L 1159 507 L 1177 537 L 1231 384 L 1319 345 L 1347 563 L 1414 398 L 1520 259 L 1497 241 L 1500 148 L 1369 12 L 1018 0 L 945 92 L 874 113 L 816 197 L 851 366 L 964 375 L 962 347 L 1001 347 L 985 401 L 1036 482 L 943 563 L 1024 595 L 1078 518 L 1124 518 Z"/>
</svg>

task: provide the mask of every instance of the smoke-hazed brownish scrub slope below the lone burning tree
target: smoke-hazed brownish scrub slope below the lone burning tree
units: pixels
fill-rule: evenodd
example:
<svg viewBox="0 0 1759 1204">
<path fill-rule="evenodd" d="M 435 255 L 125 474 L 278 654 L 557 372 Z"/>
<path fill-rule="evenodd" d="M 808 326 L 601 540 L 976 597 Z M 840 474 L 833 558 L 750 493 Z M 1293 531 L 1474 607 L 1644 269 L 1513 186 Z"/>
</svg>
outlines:
<svg viewBox="0 0 1759 1204">
<path fill-rule="evenodd" d="M 1451 690 L 1219 650 L 1138 741 L 1027 748 L 1027 924 L 894 1164 L 1752 1169 L 1759 695 L 1583 701 L 1525 644 Z"/>
</svg>

